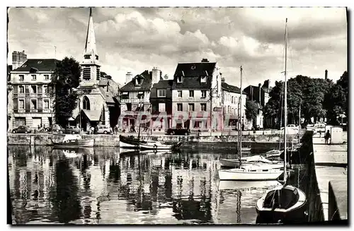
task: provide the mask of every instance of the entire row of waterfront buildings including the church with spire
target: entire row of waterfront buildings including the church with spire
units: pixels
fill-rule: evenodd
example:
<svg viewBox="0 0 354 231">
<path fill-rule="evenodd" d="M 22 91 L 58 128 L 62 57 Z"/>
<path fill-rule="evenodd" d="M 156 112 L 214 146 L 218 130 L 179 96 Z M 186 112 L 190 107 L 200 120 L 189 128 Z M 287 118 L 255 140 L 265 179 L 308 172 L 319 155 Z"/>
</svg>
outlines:
<svg viewBox="0 0 354 231">
<path fill-rule="evenodd" d="M 23 51 L 13 52 L 12 61 L 12 66 L 8 66 L 8 129 L 19 125 L 55 124 L 48 84 L 58 60 L 27 59 Z M 265 122 L 262 109 L 268 102 L 270 81 L 258 86 L 249 85 L 241 94 L 240 88 L 225 82 L 217 62 L 207 59 L 179 63 L 173 78 L 163 78 L 161 70 L 156 67 L 137 76 L 128 72 L 125 85 L 120 87 L 100 69 L 91 11 L 84 59 L 80 65 L 82 71 L 77 88 L 80 107 L 74 109 L 68 125 L 78 125 L 81 117 L 84 131 L 98 124 L 113 127 L 118 124 L 120 114 L 126 112 L 149 112 L 152 114 L 151 123 L 144 126 L 152 126 L 155 122 L 154 126 L 158 124 L 156 129 L 161 131 L 167 129 L 166 126 L 178 126 L 173 121 L 181 119 L 181 114 L 184 118 L 180 125 L 183 127 L 204 130 L 209 127 L 207 121 L 212 119 L 216 122 L 215 129 L 222 129 L 224 125 L 236 126 L 239 109 L 245 115 L 246 97 L 258 103 L 256 120 L 246 122 L 244 119 L 246 128 L 262 128 Z M 239 107 L 241 95 L 242 107 Z M 166 114 L 163 119 L 159 117 L 162 113 Z M 226 124 L 225 118 L 228 120 Z M 136 119 L 137 115 L 127 115 L 122 119 L 122 126 L 135 126 Z"/>
</svg>

